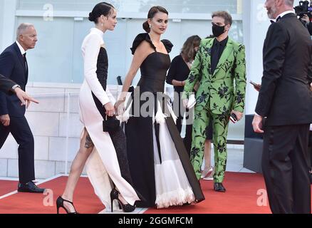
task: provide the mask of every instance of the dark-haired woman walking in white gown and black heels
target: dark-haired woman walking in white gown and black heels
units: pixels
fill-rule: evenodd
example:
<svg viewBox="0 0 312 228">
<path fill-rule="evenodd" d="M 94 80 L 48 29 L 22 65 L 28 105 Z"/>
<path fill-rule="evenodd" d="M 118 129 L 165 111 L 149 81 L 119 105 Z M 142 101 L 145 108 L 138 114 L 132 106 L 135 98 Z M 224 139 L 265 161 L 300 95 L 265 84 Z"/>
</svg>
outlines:
<svg viewBox="0 0 312 228">
<path fill-rule="evenodd" d="M 66 189 L 56 201 L 57 211 L 62 207 L 68 213 L 76 213 L 73 192 L 85 166 L 95 194 L 107 210 L 113 211 L 116 199 L 115 203 L 118 202 L 124 212 L 132 212 L 135 209 L 132 205 L 139 197 L 131 186 L 125 135 L 121 128 L 114 133 L 103 132 L 105 115 L 115 115 L 113 96 L 106 88 L 108 56 L 103 34 L 114 30 L 116 11 L 112 5 L 102 2 L 95 6 L 89 20 L 95 22 L 95 28 L 82 44 L 85 81 L 79 95 L 80 120 L 84 128 Z"/>
</svg>

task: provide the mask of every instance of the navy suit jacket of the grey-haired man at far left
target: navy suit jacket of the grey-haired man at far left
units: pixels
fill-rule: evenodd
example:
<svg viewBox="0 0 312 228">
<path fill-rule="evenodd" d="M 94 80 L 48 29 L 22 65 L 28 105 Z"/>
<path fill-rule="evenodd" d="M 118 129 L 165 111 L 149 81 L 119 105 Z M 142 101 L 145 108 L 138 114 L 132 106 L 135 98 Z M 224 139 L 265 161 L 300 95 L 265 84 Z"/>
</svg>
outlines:
<svg viewBox="0 0 312 228">
<path fill-rule="evenodd" d="M 0 74 L 16 82 L 25 91 L 28 75 L 24 57 L 21 55 L 19 46 L 13 43 L 0 55 Z M 25 115 L 25 106 L 21 106 L 16 95 L 6 95 L 0 92 L 0 115 L 9 114 L 14 117 Z"/>
</svg>

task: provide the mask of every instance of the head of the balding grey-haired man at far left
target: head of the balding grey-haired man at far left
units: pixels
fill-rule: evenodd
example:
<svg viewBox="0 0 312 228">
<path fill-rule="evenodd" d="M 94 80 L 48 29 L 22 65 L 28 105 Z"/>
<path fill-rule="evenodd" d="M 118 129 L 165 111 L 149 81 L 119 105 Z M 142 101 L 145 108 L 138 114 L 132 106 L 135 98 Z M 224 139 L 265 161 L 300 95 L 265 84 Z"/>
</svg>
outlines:
<svg viewBox="0 0 312 228">
<path fill-rule="evenodd" d="M 16 31 L 16 40 L 19 41 L 25 51 L 36 46 L 37 32 L 33 24 L 22 23 Z"/>
</svg>

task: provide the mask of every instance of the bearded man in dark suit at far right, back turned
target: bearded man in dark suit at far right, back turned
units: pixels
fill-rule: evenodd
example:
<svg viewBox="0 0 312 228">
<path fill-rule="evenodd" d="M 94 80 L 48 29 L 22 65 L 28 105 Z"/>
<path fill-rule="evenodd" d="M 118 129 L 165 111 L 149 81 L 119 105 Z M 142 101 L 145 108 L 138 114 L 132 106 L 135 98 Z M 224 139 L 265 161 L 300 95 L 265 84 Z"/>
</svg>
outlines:
<svg viewBox="0 0 312 228">
<path fill-rule="evenodd" d="M 256 133 L 264 133 L 266 190 L 273 213 L 310 214 L 312 41 L 293 14 L 293 0 L 267 0 L 265 6 L 276 23 L 264 41 L 264 73 L 253 127 Z"/>
</svg>

